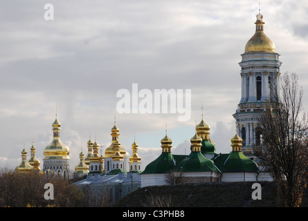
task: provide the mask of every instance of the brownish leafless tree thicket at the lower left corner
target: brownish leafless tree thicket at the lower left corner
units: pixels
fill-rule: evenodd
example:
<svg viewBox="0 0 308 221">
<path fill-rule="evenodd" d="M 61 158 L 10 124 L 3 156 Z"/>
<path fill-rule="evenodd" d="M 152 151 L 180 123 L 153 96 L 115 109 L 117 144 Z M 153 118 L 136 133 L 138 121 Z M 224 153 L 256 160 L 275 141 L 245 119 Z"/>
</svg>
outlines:
<svg viewBox="0 0 308 221">
<path fill-rule="evenodd" d="M 44 199 L 44 184 L 54 186 L 54 200 Z M 84 193 L 64 177 L 0 169 L 0 206 L 87 206 Z"/>
</svg>

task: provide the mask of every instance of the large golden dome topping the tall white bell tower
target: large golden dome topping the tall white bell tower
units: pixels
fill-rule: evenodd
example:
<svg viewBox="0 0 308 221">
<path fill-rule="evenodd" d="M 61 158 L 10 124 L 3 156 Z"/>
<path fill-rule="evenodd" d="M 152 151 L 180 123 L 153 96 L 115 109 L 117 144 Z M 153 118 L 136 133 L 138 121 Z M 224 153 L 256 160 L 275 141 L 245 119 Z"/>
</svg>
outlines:
<svg viewBox="0 0 308 221">
<path fill-rule="evenodd" d="M 262 21 L 263 16 L 257 15 L 257 21 L 255 21 L 255 35 L 249 39 L 245 46 L 246 52 L 275 52 L 275 44 L 269 39 L 264 33 L 264 22 Z"/>
</svg>

